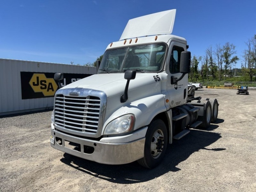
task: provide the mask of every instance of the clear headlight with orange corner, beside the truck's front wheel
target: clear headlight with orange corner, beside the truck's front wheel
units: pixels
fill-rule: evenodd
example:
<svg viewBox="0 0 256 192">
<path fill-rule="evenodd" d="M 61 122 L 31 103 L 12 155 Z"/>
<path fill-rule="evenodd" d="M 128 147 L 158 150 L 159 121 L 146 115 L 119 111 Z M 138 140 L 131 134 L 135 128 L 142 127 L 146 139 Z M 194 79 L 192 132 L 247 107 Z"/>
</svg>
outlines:
<svg viewBox="0 0 256 192">
<path fill-rule="evenodd" d="M 111 121 L 105 128 L 104 134 L 118 134 L 133 130 L 135 117 L 132 114 L 118 117 Z"/>
</svg>

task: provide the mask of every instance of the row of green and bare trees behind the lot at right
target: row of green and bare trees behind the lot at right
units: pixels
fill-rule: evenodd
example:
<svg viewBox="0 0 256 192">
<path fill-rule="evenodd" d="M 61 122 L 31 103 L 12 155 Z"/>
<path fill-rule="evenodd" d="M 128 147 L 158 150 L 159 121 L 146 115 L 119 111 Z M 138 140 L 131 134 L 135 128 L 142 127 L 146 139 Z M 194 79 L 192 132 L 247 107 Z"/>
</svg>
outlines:
<svg viewBox="0 0 256 192">
<path fill-rule="evenodd" d="M 230 77 L 249 77 L 253 81 L 256 75 L 256 35 L 249 38 L 246 42 L 246 49 L 241 58 L 241 68 L 236 68 L 238 56 L 236 55 L 236 46 L 232 43 L 224 45 L 216 44 L 209 46 L 205 50 L 204 56 L 191 57 L 191 68 L 189 79 L 191 81 L 226 81 Z M 199 64 L 201 63 L 201 68 Z M 246 79 L 246 78 L 244 78 Z M 239 79 L 240 81 L 240 79 Z M 254 78 L 256 81 L 256 77 Z"/>
</svg>

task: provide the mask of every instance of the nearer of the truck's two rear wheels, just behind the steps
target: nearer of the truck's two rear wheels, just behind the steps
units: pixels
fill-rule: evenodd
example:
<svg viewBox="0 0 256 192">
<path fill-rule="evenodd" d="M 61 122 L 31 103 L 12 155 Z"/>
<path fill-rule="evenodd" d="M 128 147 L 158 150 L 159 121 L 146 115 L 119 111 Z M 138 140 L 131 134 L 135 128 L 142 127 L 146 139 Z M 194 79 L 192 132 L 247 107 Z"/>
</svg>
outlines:
<svg viewBox="0 0 256 192">
<path fill-rule="evenodd" d="M 202 124 L 199 125 L 199 127 L 203 129 L 207 129 L 212 120 L 212 106 L 210 101 L 204 100 L 201 101 L 201 103 L 204 103 L 204 116 L 198 116 L 198 121 L 202 121 Z"/>
</svg>

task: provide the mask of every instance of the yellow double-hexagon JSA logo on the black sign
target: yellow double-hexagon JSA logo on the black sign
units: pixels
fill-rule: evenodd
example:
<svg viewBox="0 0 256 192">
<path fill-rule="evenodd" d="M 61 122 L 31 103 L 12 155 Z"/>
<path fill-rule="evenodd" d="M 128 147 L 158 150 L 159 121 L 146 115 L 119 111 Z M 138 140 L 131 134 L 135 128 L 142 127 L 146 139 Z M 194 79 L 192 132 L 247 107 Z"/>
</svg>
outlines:
<svg viewBox="0 0 256 192">
<path fill-rule="evenodd" d="M 42 92 L 44 96 L 53 96 L 58 85 L 53 78 L 47 78 L 43 73 L 34 73 L 29 81 L 34 92 Z"/>
</svg>

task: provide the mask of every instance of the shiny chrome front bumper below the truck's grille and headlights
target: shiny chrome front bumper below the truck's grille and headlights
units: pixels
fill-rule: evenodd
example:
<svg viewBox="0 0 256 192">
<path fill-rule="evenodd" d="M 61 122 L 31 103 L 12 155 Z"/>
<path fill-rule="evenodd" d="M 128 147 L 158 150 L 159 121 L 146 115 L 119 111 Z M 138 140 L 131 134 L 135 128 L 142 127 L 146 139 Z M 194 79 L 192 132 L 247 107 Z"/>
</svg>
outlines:
<svg viewBox="0 0 256 192">
<path fill-rule="evenodd" d="M 54 137 L 54 144 L 51 143 L 53 148 L 102 164 L 126 164 L 144 157 L 145 137 L 123 143 L 107 143 L 106 138 L 103 138 L 104 142 L 83 139 L 56 129 L 51 129 L 51 135 Z M 119 142 L 122 137 L 124 141 L 127 140 L 127 136 L 119 136 Z M 69 142 L 75 144 L 76 148 L 70 148 Z M 88 148 L 90 148 L 89 151 Z"/>
</svg>

